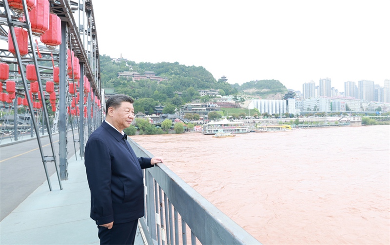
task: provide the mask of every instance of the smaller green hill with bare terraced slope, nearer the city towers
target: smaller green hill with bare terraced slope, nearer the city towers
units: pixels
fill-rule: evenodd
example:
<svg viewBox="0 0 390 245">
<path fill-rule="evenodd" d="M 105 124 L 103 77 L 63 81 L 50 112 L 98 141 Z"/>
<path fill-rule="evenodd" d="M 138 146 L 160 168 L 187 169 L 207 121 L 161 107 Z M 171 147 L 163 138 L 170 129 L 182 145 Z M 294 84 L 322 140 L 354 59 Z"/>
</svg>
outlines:
<svg viewBox="0 0 390 245">
<path fill-rule="evenodd" d="M 242 93 L 260 97 L 276 93 L 285 94 L 287 92 L 287 88 L 278 80 L 256 80 L 243 83 L 241 86 L 234 84 L 233 87 Z"/>
</svg>

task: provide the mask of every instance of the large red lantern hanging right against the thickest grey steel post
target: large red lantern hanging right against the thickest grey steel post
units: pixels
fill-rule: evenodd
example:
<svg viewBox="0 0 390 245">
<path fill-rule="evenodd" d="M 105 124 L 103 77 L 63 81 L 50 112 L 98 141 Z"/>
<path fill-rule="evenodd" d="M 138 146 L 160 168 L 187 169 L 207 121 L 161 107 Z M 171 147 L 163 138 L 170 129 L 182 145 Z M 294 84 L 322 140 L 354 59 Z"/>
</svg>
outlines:
<svg viewBox="0 0 390 245">
<path fill-rule="evenodd" d="M 40 36 L 40 41 L 50 50 L 61 44 L 61 19 L 57 15 L 50 14 L 49 30 Z"/>
</svg>

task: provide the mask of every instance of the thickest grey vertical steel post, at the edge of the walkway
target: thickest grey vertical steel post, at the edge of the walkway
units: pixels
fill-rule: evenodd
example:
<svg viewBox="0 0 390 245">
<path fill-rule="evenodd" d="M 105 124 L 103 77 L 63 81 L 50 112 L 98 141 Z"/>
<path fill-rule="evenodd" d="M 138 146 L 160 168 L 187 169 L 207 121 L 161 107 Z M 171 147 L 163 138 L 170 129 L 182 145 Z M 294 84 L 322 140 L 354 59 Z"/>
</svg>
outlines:
<svg viewBox="0 0 390 245">
<path fill-rule="evenodd" d="M 62 180 L 68 179 L 68 161 L 66 151 L 66 35 L 67 23 L 61 21 L 61 44 L 59 45 L 59 173 Z"/>
</svg>

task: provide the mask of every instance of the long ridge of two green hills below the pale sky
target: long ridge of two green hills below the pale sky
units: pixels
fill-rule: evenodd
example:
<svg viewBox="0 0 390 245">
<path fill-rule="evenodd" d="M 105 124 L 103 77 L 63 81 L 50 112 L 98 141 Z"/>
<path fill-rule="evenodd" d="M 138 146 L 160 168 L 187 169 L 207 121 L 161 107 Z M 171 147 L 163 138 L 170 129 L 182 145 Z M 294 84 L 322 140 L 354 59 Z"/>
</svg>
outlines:
<svg viewBox="0 0 390 245">
<path fill-rule="evenodd" d="M 167 80 L 157 83 L 150 80 L 131 81 L 129 78 L 118 77 L 118 73 L 124 71 L 136 71 L 139 74 L 153 71 L 156 76 Z M 214 76 L 201 66 L 185 66 L 178 62 L 136 63 L 126 59 L 113 61 L 107 55 L 100 55 L 100 76 L 103 88 L 115 88 L 117 93 L 128 94 L 134 98 L 160 98 L 160 102 L 163 102 L 161 100 L 166 97 L 174 97 L 174 92 L 193 93 L 191 89 L 196 91 L 213 88 L 220 90 L 222 95 L 234 95 L 240 92 L 262 98 L 287 91 L 287 88 L 277 80 L 257 80 L 246 82 L 241 86 L 231 85 L 224 79 L 215 80 Z M 194 94 L 187 96 L 188 99 L 195 97 Z"/>
</svg>

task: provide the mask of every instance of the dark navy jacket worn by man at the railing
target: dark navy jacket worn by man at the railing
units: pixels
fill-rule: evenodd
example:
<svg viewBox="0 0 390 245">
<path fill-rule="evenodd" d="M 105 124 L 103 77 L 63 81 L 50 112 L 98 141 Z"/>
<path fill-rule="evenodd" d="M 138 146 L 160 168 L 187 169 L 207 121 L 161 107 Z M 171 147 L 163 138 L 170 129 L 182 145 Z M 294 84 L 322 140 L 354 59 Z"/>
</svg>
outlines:
<svg viewBox="0 0 390 245">
<path fill-rule="evenodd" d="M 127 136 L 103 122 L 85 146 L 85 168 L 91 190 L 91 218 L 97 225 L 125 223 L 144 216 L 144 168 L 151 158 L 137 158 Z"/>
</svg>

